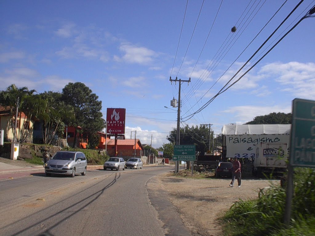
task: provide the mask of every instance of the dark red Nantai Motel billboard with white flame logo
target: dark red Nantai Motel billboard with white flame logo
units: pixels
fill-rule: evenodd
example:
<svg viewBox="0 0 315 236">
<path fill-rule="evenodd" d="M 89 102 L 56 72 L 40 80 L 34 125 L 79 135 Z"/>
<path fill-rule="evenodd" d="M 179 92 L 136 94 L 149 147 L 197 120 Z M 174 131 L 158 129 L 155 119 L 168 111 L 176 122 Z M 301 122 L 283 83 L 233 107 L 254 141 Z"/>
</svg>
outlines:
<svg viewBox="0 0 315 236">
<path fill-rule="evenodd" d="M 108 134 L 124 134 L 125 133 L 125 108 L 107 108 L 106 122 Z"/>
</svg>

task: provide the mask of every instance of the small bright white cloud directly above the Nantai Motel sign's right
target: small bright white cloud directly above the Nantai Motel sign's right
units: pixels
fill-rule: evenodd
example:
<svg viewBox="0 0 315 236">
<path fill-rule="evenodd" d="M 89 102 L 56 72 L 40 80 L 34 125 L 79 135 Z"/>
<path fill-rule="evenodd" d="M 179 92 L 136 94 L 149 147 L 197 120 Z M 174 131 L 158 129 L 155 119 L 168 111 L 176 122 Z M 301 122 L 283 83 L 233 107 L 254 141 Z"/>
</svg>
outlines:
<svg viewBox="0 0 315 236">
<path fill-rule="evenodd" d="M 119 49 L 125 53 L 122 59 L 129 63 L 149 64 L 156 57 L 156 53 L 145 47 L 122 44 Z"/>
</svg>

